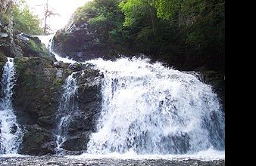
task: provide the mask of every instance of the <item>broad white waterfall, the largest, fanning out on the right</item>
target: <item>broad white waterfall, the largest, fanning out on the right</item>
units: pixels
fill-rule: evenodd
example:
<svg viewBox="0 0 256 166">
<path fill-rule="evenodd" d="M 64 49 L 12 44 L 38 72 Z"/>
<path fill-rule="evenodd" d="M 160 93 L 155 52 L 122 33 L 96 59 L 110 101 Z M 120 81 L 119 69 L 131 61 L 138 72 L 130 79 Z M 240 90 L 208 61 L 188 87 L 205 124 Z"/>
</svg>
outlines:
<svg viewBox="0 0 256 166">
<path fill-rule="evenodd" d="M 224 150 L 217 94 L 195 73 L 149 60 L 90 60 L 104 75 L 98 132 L 88 153 L 193 154 Z"/>
</svg>

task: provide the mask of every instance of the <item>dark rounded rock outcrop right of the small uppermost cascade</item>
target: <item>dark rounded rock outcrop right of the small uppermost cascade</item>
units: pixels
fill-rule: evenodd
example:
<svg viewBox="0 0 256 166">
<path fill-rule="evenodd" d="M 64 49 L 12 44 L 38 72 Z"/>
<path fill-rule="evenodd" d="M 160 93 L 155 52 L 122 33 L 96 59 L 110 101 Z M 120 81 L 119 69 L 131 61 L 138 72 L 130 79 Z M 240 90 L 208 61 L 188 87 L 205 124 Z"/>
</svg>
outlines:
<svg viewBox="0 0 256 166">
<path fill-rule="evenodd" d="M 53 51 L 61 57 L 85 61 L 98 57 L 110 59 L 108 47 L 101 43 L 98 33 L 90 28 L 89 23 L 70 23 L 56 33 Z"/>
</svg>

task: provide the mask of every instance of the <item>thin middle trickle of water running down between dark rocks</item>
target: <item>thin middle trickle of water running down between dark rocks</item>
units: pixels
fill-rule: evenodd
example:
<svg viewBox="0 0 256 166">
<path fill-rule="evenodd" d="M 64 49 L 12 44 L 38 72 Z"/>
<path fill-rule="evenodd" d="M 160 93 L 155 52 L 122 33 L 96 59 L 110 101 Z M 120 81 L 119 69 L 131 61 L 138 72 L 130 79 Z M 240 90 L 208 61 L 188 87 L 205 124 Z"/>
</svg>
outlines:
<svg viewBox="0 0 256 166">
<path fill-rule="evenodd" d="M 78 86 L 76 85 L 76 79 L 73 78 L 73 74 L 74 72 L 67 77 L 66 82 L 63 85 L 64 93 L 62 94 L 57 112 L 57 119 L 59 122 L 56 129 L 57 147 L 55 151 L 58 154 L 64 151 L 61 146 L 66 140 L 70 119 L 72 118 L 73 113 L 78 110 L 78 106 L 76 106 L 74 100 Z"/>
</svg>

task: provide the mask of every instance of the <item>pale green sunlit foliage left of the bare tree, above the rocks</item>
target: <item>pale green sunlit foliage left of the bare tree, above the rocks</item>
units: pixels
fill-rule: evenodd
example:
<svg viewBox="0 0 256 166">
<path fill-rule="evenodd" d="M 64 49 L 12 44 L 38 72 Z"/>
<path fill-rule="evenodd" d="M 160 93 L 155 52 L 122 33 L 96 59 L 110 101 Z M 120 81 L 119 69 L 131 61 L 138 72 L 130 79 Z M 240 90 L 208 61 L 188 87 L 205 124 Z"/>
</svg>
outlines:
<svg viewBox="0 0 256 166">
<path fill-rule="evenodd" d="M 14 30 L 27 35 L 43 34 L 39 18 L 33 15 L 26 5 L 24 8 L 14 5 Z"/>
</svg>

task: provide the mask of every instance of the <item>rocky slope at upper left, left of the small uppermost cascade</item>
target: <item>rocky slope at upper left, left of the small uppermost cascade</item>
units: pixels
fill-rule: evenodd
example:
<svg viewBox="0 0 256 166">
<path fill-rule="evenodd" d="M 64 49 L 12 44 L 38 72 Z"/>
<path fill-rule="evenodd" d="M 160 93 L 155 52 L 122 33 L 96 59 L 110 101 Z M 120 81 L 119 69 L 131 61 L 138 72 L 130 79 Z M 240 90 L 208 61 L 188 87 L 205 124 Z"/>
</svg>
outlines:
<svg viewBox="0 0 256 166">
<path fill-rule="evenodd" d="M 0 0 L 0 56 L 49 57 L 39 38 L 14 34 L 13 5 L 12 0 Z"/>
</svg>

